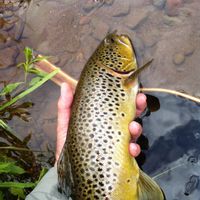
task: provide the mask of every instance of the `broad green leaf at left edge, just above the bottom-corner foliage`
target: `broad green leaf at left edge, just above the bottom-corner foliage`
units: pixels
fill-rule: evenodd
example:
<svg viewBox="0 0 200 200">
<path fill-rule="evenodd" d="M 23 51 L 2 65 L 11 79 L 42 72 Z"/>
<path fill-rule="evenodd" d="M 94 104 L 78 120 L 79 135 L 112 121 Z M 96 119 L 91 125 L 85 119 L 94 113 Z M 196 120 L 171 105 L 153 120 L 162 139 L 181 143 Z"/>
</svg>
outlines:
<svg viewBox="0 0 200 200">
<path fill-rule="evenodd" d="M 23 168 L 17 166 L 14 162 L 0 162 L 0 174 L 24 174 L 25 172 Z"/>
</svg>

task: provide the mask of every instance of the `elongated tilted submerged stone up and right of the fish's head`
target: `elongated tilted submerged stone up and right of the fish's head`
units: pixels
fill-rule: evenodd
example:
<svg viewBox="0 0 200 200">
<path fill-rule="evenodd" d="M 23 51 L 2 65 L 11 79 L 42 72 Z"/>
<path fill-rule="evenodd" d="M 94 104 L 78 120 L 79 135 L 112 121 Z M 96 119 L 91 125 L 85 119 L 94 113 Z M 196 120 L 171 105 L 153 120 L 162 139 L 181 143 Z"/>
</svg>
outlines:
<svg viewBox="0 0 200 200">
<path fill-rule="evenodd" d="M 149 11 L 146 9 L 136 10 L 125 18 L 126 25 L 131 29 L 135 29 L 140 24 L 145 22 L 145 20 L 148 18 L 148 15 Z"/>
</svg>

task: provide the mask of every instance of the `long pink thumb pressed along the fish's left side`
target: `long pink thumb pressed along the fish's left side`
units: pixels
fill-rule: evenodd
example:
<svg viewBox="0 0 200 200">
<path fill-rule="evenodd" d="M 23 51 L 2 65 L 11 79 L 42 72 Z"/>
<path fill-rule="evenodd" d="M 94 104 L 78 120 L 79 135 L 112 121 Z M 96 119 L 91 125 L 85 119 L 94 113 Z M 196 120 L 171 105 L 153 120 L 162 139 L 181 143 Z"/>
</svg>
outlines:
<svg viewBox="0 0 200 200">
<path fill-rule="evenodd" d="M 72 89 L 67 83 L 63 83 L 61 85 L 61 95 L 58 100 L 56 161 L 59 158 L 59 155 L 62 151 L 63 145 L 66 140 L 72 100 L 73 100 Z"/>
</svg>

